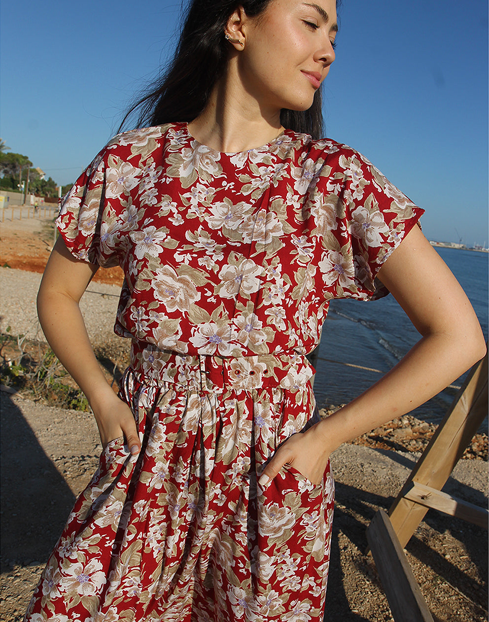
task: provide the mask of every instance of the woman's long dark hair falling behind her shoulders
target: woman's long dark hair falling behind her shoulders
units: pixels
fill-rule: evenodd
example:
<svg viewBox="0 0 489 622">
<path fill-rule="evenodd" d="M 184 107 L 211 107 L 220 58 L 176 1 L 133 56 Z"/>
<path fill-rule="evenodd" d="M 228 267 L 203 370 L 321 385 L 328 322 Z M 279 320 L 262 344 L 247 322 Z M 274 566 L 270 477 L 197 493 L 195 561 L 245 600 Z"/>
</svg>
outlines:
<svg viewBox="0 0 489 622">
<path fill-rule="evenodd" d="M 238 6 L 249 17 L 259 15 L 271 0 L 192 0 L 179 44 L 167 71 L 136 101 L 123 118 L 119 131 L 135 111 L 137 127 L 174 121 L 193 121 L 205 108 L 213 87 L 226 67 L 228 42 L 224 30 Z M 321 93 L 305 111 L 282 108 L 284 128 L 323 136 Z"/>
</svg>

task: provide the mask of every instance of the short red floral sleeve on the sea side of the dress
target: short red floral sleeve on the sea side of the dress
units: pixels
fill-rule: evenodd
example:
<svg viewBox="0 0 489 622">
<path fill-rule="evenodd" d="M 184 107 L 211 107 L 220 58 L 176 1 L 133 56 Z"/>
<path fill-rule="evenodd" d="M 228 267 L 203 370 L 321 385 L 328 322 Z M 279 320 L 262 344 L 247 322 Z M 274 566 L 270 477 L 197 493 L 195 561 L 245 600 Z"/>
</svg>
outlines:
<svg viewBox="0 0 489 622">
<path fill-rule="evenodd" d="M 376 276 L 424 210 L 365 157 L 340 146 L 326 158 L 322 182 L 324 234 L 320 270 L 328 298 L 375 300 L 389 292 Z M 421 225 L 419 225 L 421 226 Z"/>
</svg>

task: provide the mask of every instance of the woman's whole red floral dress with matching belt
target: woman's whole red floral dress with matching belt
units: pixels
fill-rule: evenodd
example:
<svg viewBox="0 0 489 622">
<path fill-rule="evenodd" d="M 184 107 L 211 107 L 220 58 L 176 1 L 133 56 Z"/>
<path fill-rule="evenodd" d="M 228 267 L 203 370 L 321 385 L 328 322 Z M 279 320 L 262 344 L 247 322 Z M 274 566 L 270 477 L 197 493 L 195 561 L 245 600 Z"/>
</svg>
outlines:
<svg viewBox="0 0 489 622">
<path fill-rule="evenodd" d="M 103 450 L 26 620 L 322 619 L 329 468 L 257 480 L 314 421 L 305 355 L 329 301 L 384 295 L 376 273 L 421 213 L 358 152 L 289 130 L 236 154 L 184 123 L 109 142 L 57 224 L 76 258 L 123 266 L 142 451 Z"/>
</svg>

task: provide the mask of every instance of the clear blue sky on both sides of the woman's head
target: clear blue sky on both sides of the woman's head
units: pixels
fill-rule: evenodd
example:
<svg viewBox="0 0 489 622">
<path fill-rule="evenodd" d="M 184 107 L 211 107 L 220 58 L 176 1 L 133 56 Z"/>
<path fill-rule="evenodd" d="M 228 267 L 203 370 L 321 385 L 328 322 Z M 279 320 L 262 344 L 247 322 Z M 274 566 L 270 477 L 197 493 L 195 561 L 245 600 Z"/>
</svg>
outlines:
<svg viewBox="0 0 489 622">
<path fill-rule="evenodd" d="M 488 244 L 487 2 L 343 0 L 327 135 L 414 202 L 431 239 Z M 0 136 L 73 182 L 172 52 L 180 2 L 1 4 Z"/>
</svg>

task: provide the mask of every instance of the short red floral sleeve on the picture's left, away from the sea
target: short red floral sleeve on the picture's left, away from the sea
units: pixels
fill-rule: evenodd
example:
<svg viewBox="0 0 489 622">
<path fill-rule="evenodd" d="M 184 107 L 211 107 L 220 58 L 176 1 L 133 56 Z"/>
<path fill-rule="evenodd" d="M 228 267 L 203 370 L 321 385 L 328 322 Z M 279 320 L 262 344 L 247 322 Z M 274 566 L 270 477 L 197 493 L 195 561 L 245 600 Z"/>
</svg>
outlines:
<svg viewBox="0 0 489 622">
<path fill-rule="evenodd" d="M 61 200 L 58 231 L 72 255 L 102 267 L 120 264 L 116 222 L 118 202 L 108 200 L 113 159 L 105 147 Z M 113 169 L 112 169 L 113 171 Z"/>
</svg>

